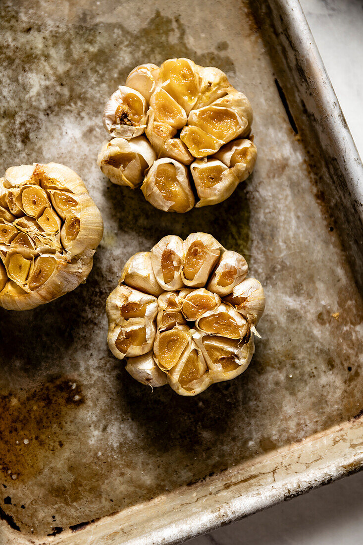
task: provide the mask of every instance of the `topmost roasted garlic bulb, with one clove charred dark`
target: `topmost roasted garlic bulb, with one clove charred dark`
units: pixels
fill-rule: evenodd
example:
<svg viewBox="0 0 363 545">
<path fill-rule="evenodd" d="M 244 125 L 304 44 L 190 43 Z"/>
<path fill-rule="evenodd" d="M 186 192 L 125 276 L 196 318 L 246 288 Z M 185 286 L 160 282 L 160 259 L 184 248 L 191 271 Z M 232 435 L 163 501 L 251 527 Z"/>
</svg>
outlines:
<svg viewBox="0 0 363 545">
<path fill-rule="evenodd" d="M 249 100 L 217 68 L 186 58 L 142 64 L 107 102 L 111 140 L 97 164 L 112 183 L 141 186 L 159 210 L 220 203 L 255 167 L 252 117 Z"/>
</svg>

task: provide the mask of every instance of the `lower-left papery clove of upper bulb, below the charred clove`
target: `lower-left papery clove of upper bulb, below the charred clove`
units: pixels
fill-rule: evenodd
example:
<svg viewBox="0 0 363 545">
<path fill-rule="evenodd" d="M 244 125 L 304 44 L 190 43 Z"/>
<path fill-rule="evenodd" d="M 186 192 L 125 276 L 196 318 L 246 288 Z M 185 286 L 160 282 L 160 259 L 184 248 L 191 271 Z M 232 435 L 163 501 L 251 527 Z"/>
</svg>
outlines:
<svg viewBox="0 0 363 545">
<path fill-rule="evenodd" d="M 142 184 L 144 173 L 156 159 L 153 147 L 146 137 L 138 136 L 128 141 L 112 138 L 102 144 L 97 164 L 113 184 L 127 185 L 132 189 Z"/>
</svg>

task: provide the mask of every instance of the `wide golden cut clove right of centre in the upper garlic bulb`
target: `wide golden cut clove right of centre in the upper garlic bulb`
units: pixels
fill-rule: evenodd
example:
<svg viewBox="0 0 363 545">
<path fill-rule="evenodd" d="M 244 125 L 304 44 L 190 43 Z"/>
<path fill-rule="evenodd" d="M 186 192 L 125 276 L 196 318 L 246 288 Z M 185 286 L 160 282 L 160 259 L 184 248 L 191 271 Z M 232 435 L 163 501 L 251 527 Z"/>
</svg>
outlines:
<svg viewBox="0 0 363 545">
<path fill-rule="evenodd" d="M 188 117 L 188 126 L 196 126 L 226 144 L 245 132 L 247 119 L 240 117 L 233 108 L 215 104 L 213 102 L 210 106 L 192 110 Z"/>
</svg>

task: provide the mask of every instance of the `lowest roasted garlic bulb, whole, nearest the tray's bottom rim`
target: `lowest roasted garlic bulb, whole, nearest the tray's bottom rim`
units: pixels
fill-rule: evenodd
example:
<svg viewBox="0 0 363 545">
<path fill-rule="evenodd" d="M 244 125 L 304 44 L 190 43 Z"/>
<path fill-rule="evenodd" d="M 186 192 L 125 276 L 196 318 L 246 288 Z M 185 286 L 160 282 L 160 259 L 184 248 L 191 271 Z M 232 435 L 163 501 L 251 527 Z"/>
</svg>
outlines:
<svg viewBox="0 0 363 545">
<path fill-rule="evenodd" d="M 126 371 L 142 384 L 168 383 L 182 396 L 237 377 L 265 306 L 247 271 L 243 256 L 207 233 L 168 235 L 136 253 L 107 299 L 113 355 L 128 358 Z"/>
</svg>

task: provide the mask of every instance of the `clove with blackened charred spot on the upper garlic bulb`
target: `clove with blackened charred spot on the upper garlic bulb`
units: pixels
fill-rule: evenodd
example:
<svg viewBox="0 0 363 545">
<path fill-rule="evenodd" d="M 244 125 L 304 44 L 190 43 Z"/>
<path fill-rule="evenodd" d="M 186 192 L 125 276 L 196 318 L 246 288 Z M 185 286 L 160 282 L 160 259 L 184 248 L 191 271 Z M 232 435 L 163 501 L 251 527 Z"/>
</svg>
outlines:
<svg viewBox="0 0 363 545">
<path fill-rule="evenodd" d="M 146 129 L 146 113 L 147 104 L 142 94 L 120 85 L 108 100 L 102 120 L 112 136 L 130 140 Z"/>
</svg>

